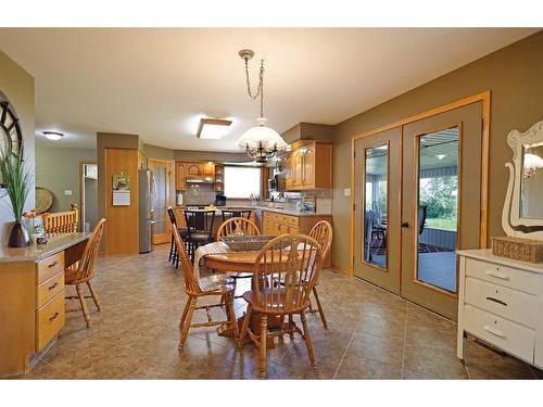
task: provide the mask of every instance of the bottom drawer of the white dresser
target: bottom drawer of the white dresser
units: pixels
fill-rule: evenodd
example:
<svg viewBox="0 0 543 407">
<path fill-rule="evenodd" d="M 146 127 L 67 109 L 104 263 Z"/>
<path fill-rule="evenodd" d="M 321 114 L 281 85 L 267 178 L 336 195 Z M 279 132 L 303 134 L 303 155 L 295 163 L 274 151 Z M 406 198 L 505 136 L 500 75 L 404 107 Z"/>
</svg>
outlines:
<svg viewBox="0 0 543 407">
<path fill-rule="evenodd" d="M 469 305 L 464 307 L 464 328 L 483 341 L 533 363 L 533 330 Z"/>
</svg>

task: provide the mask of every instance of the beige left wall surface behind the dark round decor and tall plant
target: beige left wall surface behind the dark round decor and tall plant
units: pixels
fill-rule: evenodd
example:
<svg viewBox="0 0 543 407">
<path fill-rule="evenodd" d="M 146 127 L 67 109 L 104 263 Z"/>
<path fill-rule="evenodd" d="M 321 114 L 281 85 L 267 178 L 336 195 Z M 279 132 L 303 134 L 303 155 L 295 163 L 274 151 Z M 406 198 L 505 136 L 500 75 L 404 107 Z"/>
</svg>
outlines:
<svg viewBox="0 0 543 407">
<path fill-rule="evenodd" d="M 11 102 L 23 132 L 23 142 L 27 165 L 34 174 L 34 78 L 25 69 L 18 66 L 7 54 L 0 51 L 0 92 Z M 25 208 L 35 206 L 34 178 Z M 0 242 L 4 244 L 9 229 L 13 221 L 13 215 L 8 209 L 11 205 L 7 198 L 0 202 Z"/>
</svg>

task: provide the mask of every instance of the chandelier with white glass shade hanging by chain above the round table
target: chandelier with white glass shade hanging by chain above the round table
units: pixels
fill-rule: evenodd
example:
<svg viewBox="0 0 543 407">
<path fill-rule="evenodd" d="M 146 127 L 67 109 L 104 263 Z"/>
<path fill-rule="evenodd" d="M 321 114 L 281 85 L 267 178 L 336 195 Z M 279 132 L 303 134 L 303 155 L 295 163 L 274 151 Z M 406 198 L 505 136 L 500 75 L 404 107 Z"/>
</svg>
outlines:
<svg viewBox="0 0 543 407">
<path fill-rule="evenodd" d="M 241 50 L 239 55 L 245 61 L 247 91 L 251 99 L 261 98 L 261 116 L 256 119 L 258 126 L 250 128 L 237 141 L 240 150 L 257 163 L 266 163 L 276 156 L 277 152 L 285 150 L 287 143 L 282 137 L 273 128 L 266 126 L 267 119 L 264 117 L 264 60 L 261 60 L 261 69 L 258 75 L 258 86 L 256 92 L 251 92 L 251 82 L 249 80 L 249 60 L 254 56 L 251 50 Z"/>
</svg>

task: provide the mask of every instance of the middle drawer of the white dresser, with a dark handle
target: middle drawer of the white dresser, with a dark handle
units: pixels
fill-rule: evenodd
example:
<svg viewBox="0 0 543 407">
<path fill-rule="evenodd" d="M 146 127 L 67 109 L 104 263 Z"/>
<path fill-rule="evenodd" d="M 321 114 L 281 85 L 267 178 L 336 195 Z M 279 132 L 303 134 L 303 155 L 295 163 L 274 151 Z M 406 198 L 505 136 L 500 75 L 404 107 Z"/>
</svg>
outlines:
<svg viewBox="0 0 543 407">
<path fill-rule="evenodd" d="M 538 297 L 534 295 L 468 277 L 465 302 L 512 321 L 535 328 Z"/>
</svg>

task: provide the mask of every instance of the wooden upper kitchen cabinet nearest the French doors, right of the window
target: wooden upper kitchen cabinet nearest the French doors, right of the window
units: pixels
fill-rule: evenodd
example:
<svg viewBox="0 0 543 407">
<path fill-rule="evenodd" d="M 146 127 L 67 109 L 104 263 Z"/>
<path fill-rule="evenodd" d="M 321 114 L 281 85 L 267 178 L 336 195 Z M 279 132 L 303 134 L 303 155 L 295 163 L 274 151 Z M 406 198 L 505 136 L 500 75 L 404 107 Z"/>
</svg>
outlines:
<svg viewBox="0 0 543 407">
<path fill-rule="evenodd" d="M 287 190 L 332 187 L 332 144 L 313 141 L 287 157 Z"/>
</svg>

